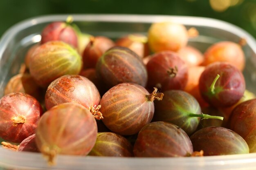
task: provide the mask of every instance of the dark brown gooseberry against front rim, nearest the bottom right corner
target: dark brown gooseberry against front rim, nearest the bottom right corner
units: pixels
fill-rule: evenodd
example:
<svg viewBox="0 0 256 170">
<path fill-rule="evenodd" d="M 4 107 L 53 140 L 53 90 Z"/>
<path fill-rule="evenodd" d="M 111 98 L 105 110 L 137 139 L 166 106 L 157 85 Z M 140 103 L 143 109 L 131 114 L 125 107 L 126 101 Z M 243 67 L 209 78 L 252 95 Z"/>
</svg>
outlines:
<svg viewBox="0 0 256 170">
<path fill-rule="evenodd" d="M 190 137 L 194 151 L 204 151 L 204 156 L 249 153 L 245 140 L 236 132 L 223 127 L 207 127 Z"/>
</svg>

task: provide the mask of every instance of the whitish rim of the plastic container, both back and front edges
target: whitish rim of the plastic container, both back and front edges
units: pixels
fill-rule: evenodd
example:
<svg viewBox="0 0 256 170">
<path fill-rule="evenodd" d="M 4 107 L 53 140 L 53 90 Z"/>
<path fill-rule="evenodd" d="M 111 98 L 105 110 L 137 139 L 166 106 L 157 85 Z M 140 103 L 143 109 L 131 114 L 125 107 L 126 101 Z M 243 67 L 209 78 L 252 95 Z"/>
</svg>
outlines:
<svg viewBox="0 0 256 170">
<path fill-rule="evenodd" d="M 245 38 L 247 44 L 256 54 L 256 41 L 252 35 L 245 30 L 230 24 L 225 21 L 216 20 L 204 17 L 191 16 L 174 16 L 174 15 L 128 15 L 128 14 L 71 14 L 76 21 L 94 21 L 94 22 L 137 22 L 137 23 L 152 23 L 159 21 L 173 21 L 180 24 L 191 26 L 204 26 L 228 31 L 236 34 L 240 38 Z M 38 17 L 29 18 L 27 20 L 18 22 L 11 26 L 0 39 L 0 60 L 7 48 L 7 45 L 13 40 L 18 31 L 26 29 L 45 22 L 53 22 L 59 20 L 66 20 L 67 14 L 58 15 L 41 15 Z M 68 160 L 68 161 L 67 161 Z M 45 159 L 42 159 L 40 153 L 29 152 L 12 152 L 0 148 L 0 167 L 16 167 L 22 169 L 45 169 L 45 170 L 70 170 L 74 168 L 74 163 L 79 163 L 82 169 L 111 169 L 118 170 L 121 166 L 126 165 L 129 168 L 148 168 L 167 170 L 167 169 L 247 169 L 256 168 L 256 153 L 244 155 L 226 155 L 226 156 L 211 156 L 211 157 L 179 157 L 179 158 L 117 158 L 117 157 L 92 157 L 92 156 L 70 156 L 59 155 L 57 157 L 57 166 L 49 167 Z M 29 164 L 26 162 L 30 162 Z M 95 163 L 97 163 L 95 165 Z M 224 165 L 224 166 L 223 166 Z M 92 166 L 92 168 L 90 168 Z M 97 166 L 97 167 L 96 167 Z M 116 166 L 116 167 L 113 167 Z M 99 168 L 100 167 L 100 168 Z M 124 168 L 128 169 L 128 168 Z"/>
</svg>

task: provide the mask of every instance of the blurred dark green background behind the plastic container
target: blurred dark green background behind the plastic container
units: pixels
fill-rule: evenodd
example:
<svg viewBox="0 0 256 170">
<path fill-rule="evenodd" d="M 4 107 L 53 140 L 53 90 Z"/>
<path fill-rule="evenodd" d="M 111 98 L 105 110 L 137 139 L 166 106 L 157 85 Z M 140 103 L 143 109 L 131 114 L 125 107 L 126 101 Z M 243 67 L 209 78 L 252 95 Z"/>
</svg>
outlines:
<svg viewBox="0 0 256 170">
<path fill-rule="evenodd" d="M 27 18 L 62 13 L 202 16 L 240 26 L 256 38 L 256 0 L 0 0 L 0 37 Z"/>
</svg>

